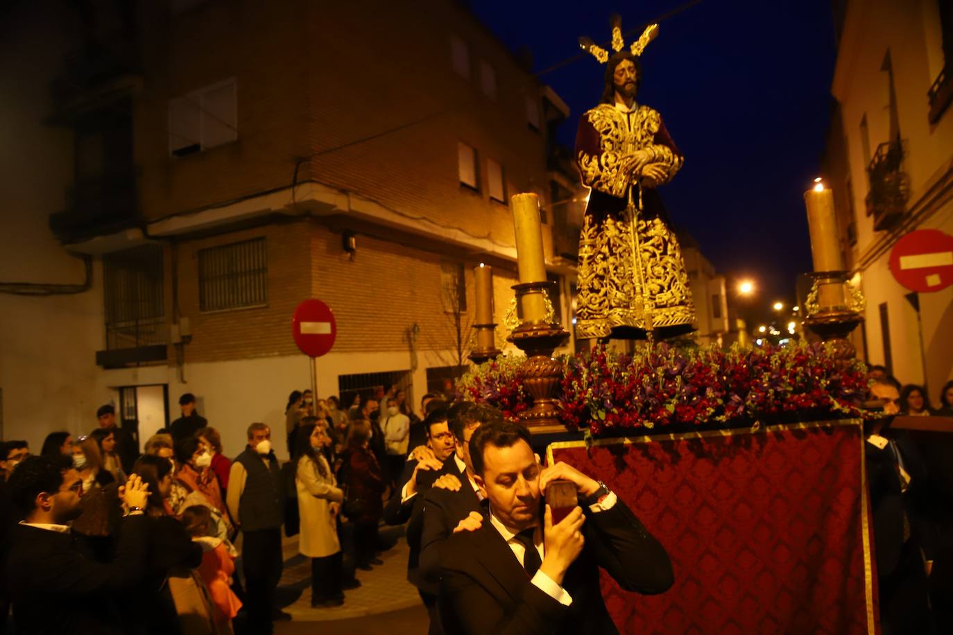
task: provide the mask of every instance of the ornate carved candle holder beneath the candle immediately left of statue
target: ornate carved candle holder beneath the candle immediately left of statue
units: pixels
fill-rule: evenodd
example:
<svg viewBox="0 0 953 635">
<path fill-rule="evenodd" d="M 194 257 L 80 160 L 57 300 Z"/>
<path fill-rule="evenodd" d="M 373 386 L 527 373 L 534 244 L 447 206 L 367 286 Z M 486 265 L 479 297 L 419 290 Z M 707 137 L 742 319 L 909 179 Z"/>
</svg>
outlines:
<svg viewBox="0 0 953 635">
<path fill-rule="evenodd" d="M 521 306 L 524 296 L 539 294 L 545 297 L 544 292 L 552 288 L 556 288 L 556 283 L 527 282 L 514 285 L 517 306 Z M 556 398 L 562 378 L 562 364 L 553 359 L 553 351 L 565 343 L 568 337 L 569 332 L 546 315 L 543 320 L 535 322 L 527 322 L 524 317 L 508 338 L 526 353 L 522 367 L 523 387 L 533 396 L 533 406 L 519 413 L 526 427 L 537 430 L 544 427 L 562 429 Z"/>
</svg>

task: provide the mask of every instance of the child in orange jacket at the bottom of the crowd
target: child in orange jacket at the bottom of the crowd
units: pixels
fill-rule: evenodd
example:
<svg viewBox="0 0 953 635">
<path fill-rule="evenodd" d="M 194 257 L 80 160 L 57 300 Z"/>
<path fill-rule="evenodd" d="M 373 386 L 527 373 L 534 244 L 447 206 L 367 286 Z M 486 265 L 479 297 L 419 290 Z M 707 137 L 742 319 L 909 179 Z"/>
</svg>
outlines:
<svg viewBox="0 0 953 635">
<path fill-rule="evenodd" d="M 207 506 L 193 505 L 182 512 L 182 524 L 192 536 L 193 543 L 202 546 L 202 564 L 199 575 L 209 587 L 215 605 L 216 622 L 224 633 L 232 632 L 232 619 L 241 608 L 241 601 L 231 588 L 235 570 L 229 545 L 212 534 L 212 512 Z"/>
</svg>

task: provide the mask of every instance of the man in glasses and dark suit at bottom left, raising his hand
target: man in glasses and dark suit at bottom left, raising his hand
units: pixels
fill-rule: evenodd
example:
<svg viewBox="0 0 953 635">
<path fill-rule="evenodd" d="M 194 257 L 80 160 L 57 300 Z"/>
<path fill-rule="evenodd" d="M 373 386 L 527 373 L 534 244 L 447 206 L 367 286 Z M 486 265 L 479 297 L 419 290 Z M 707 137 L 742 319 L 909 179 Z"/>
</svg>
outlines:
<svg viewBox="0 0 953 635">
<path fill-rule="evenodd" d="M 84 557 L 66 525 L 82 511 L 83 482 L 65 457 L 34 456 L 10 477 L 10 498 L 25 520 L 14 526 L 7 567 L 18 633 L 121 633 L 114 599 L 137 584 L 146 566 L 149 496 L 138 476 L 126 484 L 112 563 Z M 142 616 L 145 620 L 146 616 Z"/>
</svg>

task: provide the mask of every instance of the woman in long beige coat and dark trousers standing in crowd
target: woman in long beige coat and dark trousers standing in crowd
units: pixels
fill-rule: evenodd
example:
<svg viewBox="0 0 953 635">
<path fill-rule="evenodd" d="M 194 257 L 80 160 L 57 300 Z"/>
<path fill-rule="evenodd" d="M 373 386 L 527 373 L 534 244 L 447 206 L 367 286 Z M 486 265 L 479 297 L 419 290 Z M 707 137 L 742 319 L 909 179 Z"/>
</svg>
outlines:
<svg viewBox="0 0 953 635">
<path fill-rule="evenodd" d="M 311 558 L 311 605 L 340 606 L 344 604 L 344 593 L 337 512 L 344 492 L 337 486 L 324 457 L 325 448 L 331 445 L 327 424 L 298 427 L 295 441 L 300 452 L 294 471 L 301 515 L 298 551 Z"/>
</svg>

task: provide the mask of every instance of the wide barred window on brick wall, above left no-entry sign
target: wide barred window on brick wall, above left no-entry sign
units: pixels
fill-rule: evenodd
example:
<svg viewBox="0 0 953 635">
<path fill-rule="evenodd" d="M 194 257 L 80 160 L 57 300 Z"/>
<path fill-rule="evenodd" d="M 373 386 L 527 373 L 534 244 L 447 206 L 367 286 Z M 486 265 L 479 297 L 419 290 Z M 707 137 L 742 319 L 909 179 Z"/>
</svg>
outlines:
<svg viewBox="0 0 953 635">
<path fill-rule="evenodd" d="M 265 239 L 199 249 L 198 304 L 203 311 L 268 304 Z"/>
</svg>

